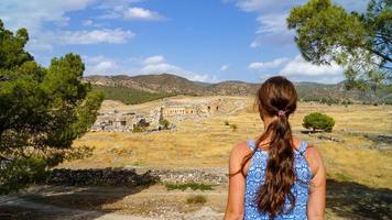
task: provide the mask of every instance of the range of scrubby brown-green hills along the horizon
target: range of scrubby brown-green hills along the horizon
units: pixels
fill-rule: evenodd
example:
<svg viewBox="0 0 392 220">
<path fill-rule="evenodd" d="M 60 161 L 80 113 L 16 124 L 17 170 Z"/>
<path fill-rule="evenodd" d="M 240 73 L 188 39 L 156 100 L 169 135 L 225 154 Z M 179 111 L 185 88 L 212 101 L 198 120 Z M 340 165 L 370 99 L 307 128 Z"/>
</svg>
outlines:
<svg viewBox="0 0 392 220">
<path fill-rule="evenodd" d="M 186 78 L 171 75 L 139 75 L 139 76 L 87 76 L 87 81 L 90 81 L 96 88 L 106 90 L 107 98 L 126 96 L 127 89 L 135 97 L 138 92 L 146 97 L 146 100 L 154 98 L 163 98 L 174 95 L 225 95 L 225 96 L 249 96 L 255 95 L 260 84 L 250 84 L 244 81 L 221 81 L 217 84 L 208 84 L 202 81 L 192 81 Z M 380 89 L 374 96 L 372 92 L 345 89 L 344 82 L 336 85 L 326 85 L 317 82 L 295 82 L 300 98 L 305 101 L 323 101 L 323 102 L 382 102 L 392 103 L 391 86 Z M 128 96 L 130 97 L 130 96 Z M 128 103 L 143 102 L 144 99 L 130 101 Z"/>
</svg>

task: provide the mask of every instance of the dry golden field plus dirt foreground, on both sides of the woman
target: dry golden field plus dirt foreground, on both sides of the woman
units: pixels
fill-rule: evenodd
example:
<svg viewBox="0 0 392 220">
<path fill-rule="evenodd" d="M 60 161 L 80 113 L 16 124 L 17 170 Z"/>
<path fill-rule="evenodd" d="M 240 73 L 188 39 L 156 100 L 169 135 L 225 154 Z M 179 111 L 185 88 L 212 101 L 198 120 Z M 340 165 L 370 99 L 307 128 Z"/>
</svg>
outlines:
<svg viewBox="0 0 392 220">
<path fill-rule="evenodd" d="M 164 101 L 195 103 L 209 98 L 217 97 L 172 97 Z M 254 99 L 218 98 L 222 99 L 220 113 L 204 118 L 168 118 L 176 125 L 174 130 L 89 132 L 77 140 L 74 147 L 95 146 L 92 155 L 65 162 L 58 167 L 124 167 L 137 168 L 141 174 L 146 169 L 168 169 L 181 170 L 179 175 L 185 175 L 184 170 L 192 174 L 204 170 L 225 176 L 231 147 L 260 135 L 262 123 L 253 109 Z M 101 111 L 148 112 L 161 103 L 162 100 L 124 106 L 105 101 Z M 331 133 L 304 132 L 302 120 L 314 111 L 334 117 L 336 125 Z M 328 175 L 326 219 L 392 218 L 392 106 L 345 107 L 301 102 L 291 123 L 295 135 L 316 145 L 323 154 Z M 334 138 L 335 141 L 319 139 L 318 135 Z M 18 220 L 29 219 L 25 217 L 45 220 L 222 219 L 228 190 L 226 180 L 207 186 L 210 187 L 207 190 L 192 187 L 170 189 L 166 184 L 139 187 L 36 186 L 22 197 L 3 198 L 14 205 L 2 206 L 0 216 Z M 192 184 L 202 187 L 198 180 Z M 0 198 L 1 202 L 4 204 Z"/>
</svg>

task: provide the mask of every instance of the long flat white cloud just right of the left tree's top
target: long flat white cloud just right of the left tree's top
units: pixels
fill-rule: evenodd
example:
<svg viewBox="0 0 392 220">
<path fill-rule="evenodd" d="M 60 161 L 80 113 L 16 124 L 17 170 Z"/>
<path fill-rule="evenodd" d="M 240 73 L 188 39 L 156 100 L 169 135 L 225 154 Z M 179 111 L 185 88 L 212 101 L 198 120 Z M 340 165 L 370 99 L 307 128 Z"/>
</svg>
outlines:
<svg viewBox="0 0 392 220">
<path fill-rule="evenodd" d="M 121 44 L 134 37 L 131 31 L 102 29 L 92 31 L 66 31 L 57 34 L 61 44 Z"/>
</svg>

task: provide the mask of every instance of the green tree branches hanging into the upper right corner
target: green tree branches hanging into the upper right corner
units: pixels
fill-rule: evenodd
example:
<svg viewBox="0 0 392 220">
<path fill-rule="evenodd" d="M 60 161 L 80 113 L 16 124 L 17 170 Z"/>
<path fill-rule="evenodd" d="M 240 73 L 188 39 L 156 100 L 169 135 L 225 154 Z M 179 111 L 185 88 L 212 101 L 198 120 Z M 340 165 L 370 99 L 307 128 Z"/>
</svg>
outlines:
<svg viewBox="0 0 392 220">
<path fill-rule="evenodd" d="M 366 13 L 348 13 L 330 0 L 292 9 L 288 29 L 305 61 L 345 68 L 346 87 L 374 92 L 391 81 L 392 0 L 371 0 Z"/>
</svg>

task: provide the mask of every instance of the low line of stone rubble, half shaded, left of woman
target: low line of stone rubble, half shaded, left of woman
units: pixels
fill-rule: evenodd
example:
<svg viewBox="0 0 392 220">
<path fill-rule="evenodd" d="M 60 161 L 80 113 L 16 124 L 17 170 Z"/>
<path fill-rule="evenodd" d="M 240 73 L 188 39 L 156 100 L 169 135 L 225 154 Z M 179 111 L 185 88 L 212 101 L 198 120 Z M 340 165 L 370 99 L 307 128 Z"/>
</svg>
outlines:
<svg viewBox="0 0 392 220">
<path fill-rule="evenodd" d="M 228 177 L 225 174 L 211 174 L 197 169 L 152 169 L 138 174 L 134 168 L 56 168 L 50 170 L 45 179 L 45 184 L 65 186 L 145 186 L 157 182 L 220 185 L 226 184 Z"/>
</svg>

